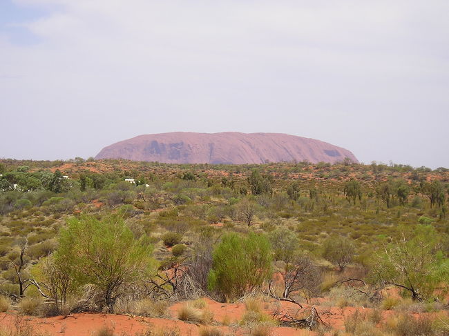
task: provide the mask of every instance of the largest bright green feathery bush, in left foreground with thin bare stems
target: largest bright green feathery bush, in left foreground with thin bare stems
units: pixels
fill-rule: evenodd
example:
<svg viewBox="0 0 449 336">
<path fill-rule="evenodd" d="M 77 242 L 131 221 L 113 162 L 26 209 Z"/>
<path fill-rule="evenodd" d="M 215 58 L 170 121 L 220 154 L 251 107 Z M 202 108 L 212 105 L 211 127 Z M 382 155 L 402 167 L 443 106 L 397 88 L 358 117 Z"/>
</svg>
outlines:
<svg viewBox="0 0 449 336">
<path fill-rule="evenodd" d="M 79 285 L 95 286 L 103 297 L 100 306 L 111 313 L 126 287 L 146 273 L 150 253 L 151 246 L 135 240 L 121 217 L 84 216 L 70 219 L 61 231 L 55 260 Z"/>
</svg>

